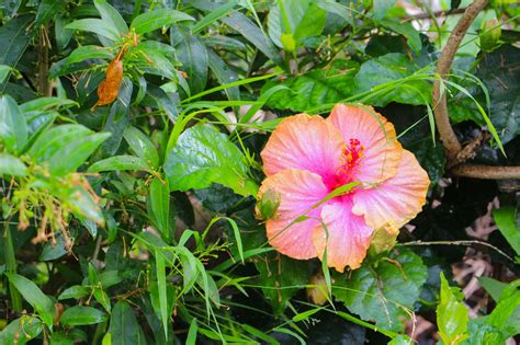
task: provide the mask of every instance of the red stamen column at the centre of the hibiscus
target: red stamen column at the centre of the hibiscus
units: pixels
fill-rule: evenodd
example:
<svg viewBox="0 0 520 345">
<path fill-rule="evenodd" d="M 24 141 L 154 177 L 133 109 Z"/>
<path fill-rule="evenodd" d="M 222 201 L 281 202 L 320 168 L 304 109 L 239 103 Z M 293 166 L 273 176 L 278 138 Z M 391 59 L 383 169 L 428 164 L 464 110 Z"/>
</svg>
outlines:
<svg viewBox="0 0 520 345">
<path fill-rule="evenodd" d="M 347 142 L 343 145 L 341 149 L 339 169 L 336 174 L 327 181 L 327 185 L 330 191 L 352 182 L 354 174 L 361 166 L 363 152 L 364 146 L 362 146 L 358 139 L 350 139 L 348 145 Z"/>
</svg>

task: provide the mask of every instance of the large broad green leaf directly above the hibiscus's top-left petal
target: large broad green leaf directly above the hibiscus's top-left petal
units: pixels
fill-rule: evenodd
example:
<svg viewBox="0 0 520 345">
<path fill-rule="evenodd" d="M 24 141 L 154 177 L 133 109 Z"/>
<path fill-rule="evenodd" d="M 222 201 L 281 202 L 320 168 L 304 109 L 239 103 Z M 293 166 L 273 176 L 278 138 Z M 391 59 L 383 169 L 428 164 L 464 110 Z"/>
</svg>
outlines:
<svg viewBox="0 0 520 345">
<path fill-rule="evenodd" d="M 337 103 L 351 96 L 354 92 L 357 62 L 348 62 L 344 68 L 313 70 L 297 77 L 289 77 L 283 82 L 270 81 L 262 88 L 262 94 L 271 88 L 285 85 L 289 90 L 275 92 L 267 101 L 267 105 L 294 112 L 306 112 L 325 103 Z"/>
</svg>

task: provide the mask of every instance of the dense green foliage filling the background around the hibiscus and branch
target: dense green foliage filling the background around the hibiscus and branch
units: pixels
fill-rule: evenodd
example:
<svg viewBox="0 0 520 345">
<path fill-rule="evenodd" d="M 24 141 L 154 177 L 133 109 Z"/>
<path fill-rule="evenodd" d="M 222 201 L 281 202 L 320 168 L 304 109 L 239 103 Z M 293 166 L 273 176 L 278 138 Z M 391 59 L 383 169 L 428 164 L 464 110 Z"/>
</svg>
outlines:
<svg viewBox="0 0 520 345">
<path fill-rule="evenodd" d="M 433 117 L 472 1 L 410 2 L 3 1 L 0 344 L 518 334 L 519 180 L 452 173 Z M 441 83 L 472 162 L 520 164 L 519 15 L 490 1 Z M 373 105 L 431 180 L 398 243 L 344 273 L 278 253 L 257 200 L 270 133 L 336 103 Z"/>
</svg>

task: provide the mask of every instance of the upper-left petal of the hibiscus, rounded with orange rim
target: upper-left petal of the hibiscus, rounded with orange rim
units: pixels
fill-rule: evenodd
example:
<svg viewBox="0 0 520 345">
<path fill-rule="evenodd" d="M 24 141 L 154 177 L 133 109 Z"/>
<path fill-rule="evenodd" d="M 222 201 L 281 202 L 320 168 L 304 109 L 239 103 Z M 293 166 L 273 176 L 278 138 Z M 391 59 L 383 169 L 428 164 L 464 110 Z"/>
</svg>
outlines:
<svg viewBox="0 0 520 345">
<path fill-rule="evenodd" d="M 287 117 L 274 129 L 261 153 L 265 174 L 301 169 L 329 176 L 338 169 L 342 145 L 341 134 L 323 117 Z"/>
</svg>

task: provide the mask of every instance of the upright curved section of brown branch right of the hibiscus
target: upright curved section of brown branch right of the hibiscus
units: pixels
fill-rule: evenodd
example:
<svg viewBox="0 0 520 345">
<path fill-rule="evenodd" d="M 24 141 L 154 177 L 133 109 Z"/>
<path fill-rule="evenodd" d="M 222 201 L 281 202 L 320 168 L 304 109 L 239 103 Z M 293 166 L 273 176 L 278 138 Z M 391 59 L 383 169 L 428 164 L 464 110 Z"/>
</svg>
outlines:
<svg viewBox="0 0 520 345">
<path fill-rule="evenodd" d="M 446 74 L 450 73 L 451 65 L 455 57 L 455 53 L 461 45 L 462 38 L 467 32 L 467 28 L 473 23 L 478 13 L 486 7 L 487 0 L 475 0 L 461 16 L 455 28 L 448 38 L 448 43 L 442 49 L 437 64 L 437 74 L 440 78 L 433 82 L 432 101 L 433 112 L 436 115 L 437 128 L 439 130 L 441 141 L 444 143 L 448 153 L 448 160 L 453 161 L 456 154 L 462 150 L 462 145 L 455 136 L 453 128 L 450 125 L 448 116 L 448 102 L 445 92 L 441 91 L 441 84 Z"/>
</svg>

